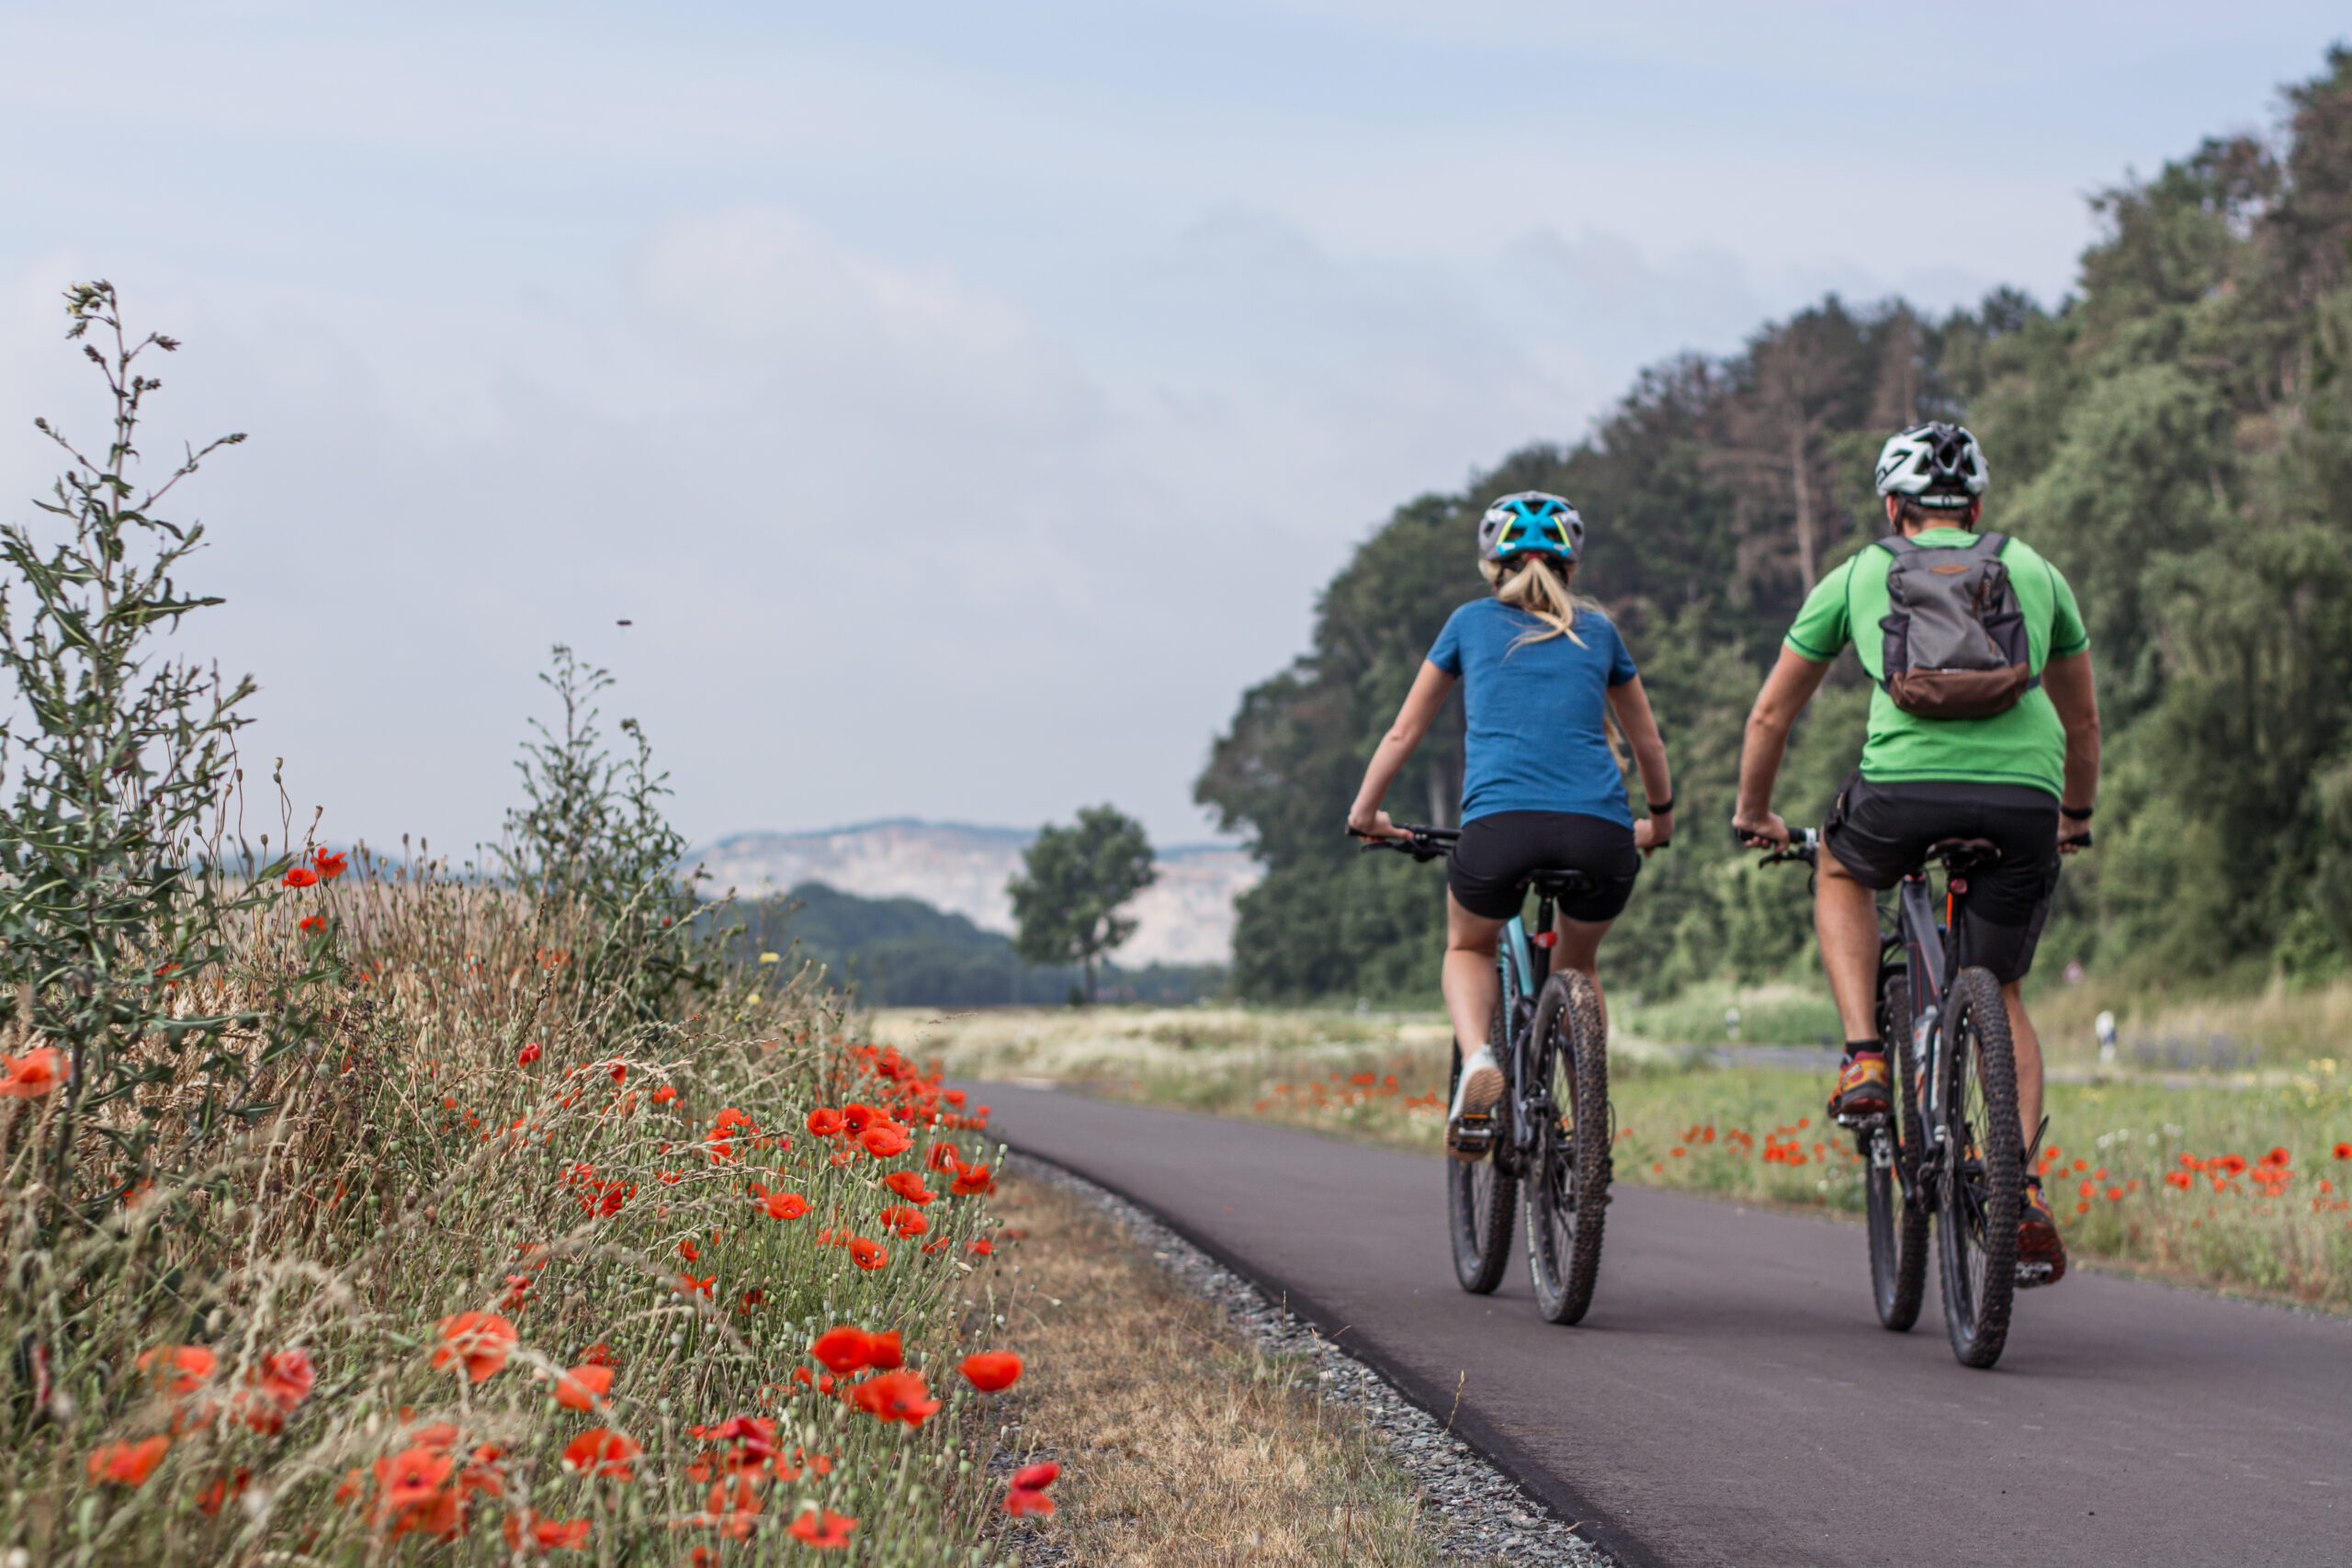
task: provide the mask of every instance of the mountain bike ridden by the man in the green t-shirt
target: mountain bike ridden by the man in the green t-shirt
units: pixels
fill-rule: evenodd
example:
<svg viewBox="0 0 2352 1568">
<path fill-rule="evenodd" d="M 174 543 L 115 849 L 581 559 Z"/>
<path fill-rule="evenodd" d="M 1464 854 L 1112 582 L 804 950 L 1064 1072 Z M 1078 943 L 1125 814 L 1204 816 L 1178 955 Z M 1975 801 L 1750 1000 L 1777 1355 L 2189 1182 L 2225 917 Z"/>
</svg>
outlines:
<svg viewBox="0 0 2352 1568">
<path fill-rule="evenodd" d="M 1740 839 L 1745 844 L 1745 837 Z M 1896 1081 L 1893 1114 L 1842 1119 L 1863 1157 L 1870 1222 L 1870 1293 L 1879 1324 L 1905 1333 L 1926 1288 L 1926 1232 L 1936 1220 L 1943 1326 L 1962 1366 L 1992 1366 L 2009 1340 L 2018 1284 L 2025 1150 L 2009 1006 L 1992 971 L 1966 964 L 1952 910 L 1969 877 L 2002 858 L 1985 839 L 1943 839 L 1896 889 L 1879 936 L 1879 1039 Z M 1820 835 L 1792 835 L 1773 863 L 1820 863 Z M 1943 912 L 1929 886 L 1943 870 Z"/>
</svg>

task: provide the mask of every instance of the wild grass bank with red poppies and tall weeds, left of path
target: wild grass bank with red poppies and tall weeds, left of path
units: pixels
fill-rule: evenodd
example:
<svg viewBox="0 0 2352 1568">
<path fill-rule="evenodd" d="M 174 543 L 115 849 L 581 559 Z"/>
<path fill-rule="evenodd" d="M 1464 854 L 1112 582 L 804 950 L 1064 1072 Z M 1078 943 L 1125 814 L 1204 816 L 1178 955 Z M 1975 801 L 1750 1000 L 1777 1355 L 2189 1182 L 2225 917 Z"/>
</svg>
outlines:
<svg viewBox="0 0 2352 1568">
<path fill-rule="evenodd" d="M 990 1561 L 981 1105 L 677 882 L 557 651 L 503 844 L 247 842 L 155 362 L 0 536 L 0 1561 Z M 181 625 L 191 623 L 191 625 Z M 176 644 L 160 635 L 179 630 Z"/>
</svg>

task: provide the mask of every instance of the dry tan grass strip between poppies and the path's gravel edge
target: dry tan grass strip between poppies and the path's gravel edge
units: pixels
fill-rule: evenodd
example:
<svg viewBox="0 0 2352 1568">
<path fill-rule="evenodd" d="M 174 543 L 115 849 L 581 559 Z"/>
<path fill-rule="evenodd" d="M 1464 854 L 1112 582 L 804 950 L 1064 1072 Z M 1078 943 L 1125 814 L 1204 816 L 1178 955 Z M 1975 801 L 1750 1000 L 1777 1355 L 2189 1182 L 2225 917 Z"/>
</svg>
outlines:
<svg viewBox="0 0 2352 1568">
<path fill-rule="evenodd" d="M 990 1281 L 1030 1375 L 1014 1448 L 1054 1458 L 1037 1561 L 1435 1563 L 1414 1483 L 1301 1366 L 1247 1345 L 1080 1197 L 1009 1178 Z"/>
</svg>

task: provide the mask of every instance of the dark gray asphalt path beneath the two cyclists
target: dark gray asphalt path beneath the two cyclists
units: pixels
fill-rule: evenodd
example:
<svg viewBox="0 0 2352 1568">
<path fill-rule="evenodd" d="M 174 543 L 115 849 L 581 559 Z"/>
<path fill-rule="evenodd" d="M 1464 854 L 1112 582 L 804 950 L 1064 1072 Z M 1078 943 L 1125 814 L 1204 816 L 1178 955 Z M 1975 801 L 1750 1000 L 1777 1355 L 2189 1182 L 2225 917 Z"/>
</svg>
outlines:
<svg viewBox="0 0 2352 1568">
<path fill-rule="evenodd" d="M 967 1084 L 1383 1371 L 1625 1563 L 2352 1563 L 2352 1324 L 2077 1269 L 1990 1373 L 1858 1225 L 1618 1187 L 1592 1312 L 1454 1284 L 1439 1157 Z"/>
</svg>

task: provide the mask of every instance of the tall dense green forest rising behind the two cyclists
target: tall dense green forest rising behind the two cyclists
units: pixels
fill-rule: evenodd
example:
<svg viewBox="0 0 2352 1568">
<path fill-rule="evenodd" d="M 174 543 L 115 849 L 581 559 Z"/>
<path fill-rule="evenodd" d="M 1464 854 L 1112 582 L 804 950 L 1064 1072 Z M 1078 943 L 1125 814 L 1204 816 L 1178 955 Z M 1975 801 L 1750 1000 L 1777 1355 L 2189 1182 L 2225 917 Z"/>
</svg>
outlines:
<svg viewBox="0 0 2352 1568">
<path fill-rule="evenodd" d="M 2270 134 L 2216 136 L 2093 197 L 2100 237 L 2056 308 L 2002 289 L 1945 317 L 1837 296 L 1731 357 L 1639 376 L 1573 447 L 1531 447 L 1409 501 L 1324 588 L 1312 646 L 1254 686 L 1197 797 L 1268 877 L 1242 900 L 1251 999 L 1435 994 L 1435 867 L 1341 832 L 1364 759 L 1446 614 L 1484 592 L 1477 515 L 1559 491 L 1590 524 L 1578 588 L 1625 632 L 1675 759 L 1679 837 L 1642 875 L 1609 969 L 1651 994 L 1764 978 L 1811 945 L 1804 877 L 1729 835 L 1740 724 L 1825 569 L 1884 531 L 1879 442 L 1964 418 L 1985 527 L 2072 578 L 2107 736 L 2098 849 L 2070 863 L 2044 973 L 2326 978 L 2352 957 L 2352 49 Z M 1955 259 L 1966 226 L 1952 223 Z M 1818 820 L 1860 750 L 1844 658 L 1799 726 L 1780 806 Z M 1461 703 L 1399 778 L 1451 823 Z"/>
</svg>

